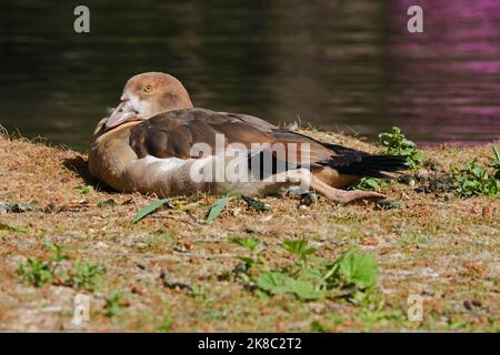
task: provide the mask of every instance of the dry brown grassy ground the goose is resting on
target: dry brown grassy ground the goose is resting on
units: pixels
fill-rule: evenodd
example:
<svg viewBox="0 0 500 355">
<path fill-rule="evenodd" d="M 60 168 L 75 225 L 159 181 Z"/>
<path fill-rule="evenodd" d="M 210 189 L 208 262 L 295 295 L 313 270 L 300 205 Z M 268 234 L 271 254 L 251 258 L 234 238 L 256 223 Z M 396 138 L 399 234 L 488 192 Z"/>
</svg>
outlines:
<svg viewBox="0 0 500 355">
<path fill-rule="evenodd" d="M 378 151 L 354 138 L 306 133 Z M 491 144 L 422 151 L 449 169 L 487 161 Z M 86 154 L 0 136 L 0 331 L 499 332 L 500 200 L 414 187 L 383 186 L 399 204 L 389 210 L 324 200 L 304 206 L 290 196 L 261 199 L 272 210 L 258 212 L 234 199 L 211 224 L 204 216 L 217 197 L 179 197 L 132 224 L 154 196 L 100 186 Z M 276 267 L 290 262 L 286 240 L 304 237 L 332 261 L 356 245 L 374 256 L 380 275 L 363 303 L 264 296 L 234 276 L 248 253 L 233 236 L 259 239 Z M 62 247 L 58 267 L 99 264 L 86 278 L 96 285 L 29 282 L 20 265 L 51 263 L 48 245 Z M 88 322 L 72 322 L 77 295 L 89 296 Z M 409 295 L 423 301 L 422 321 L 408 320 Z"/>
</svg>

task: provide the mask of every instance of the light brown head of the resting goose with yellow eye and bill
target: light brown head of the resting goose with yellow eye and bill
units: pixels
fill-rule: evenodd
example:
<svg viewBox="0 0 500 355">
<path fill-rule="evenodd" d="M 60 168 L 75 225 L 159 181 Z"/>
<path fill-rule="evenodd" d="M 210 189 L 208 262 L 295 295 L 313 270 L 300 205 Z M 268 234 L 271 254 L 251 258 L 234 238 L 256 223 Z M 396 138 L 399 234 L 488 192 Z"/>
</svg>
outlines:
<svg viewBox="0 0 500 355">
<path fill-rule="evenodd" d="M 192 108 L 182 83 L 162 72 L 147 72 L 130 78 L 120 100 L 121 103 L 106 122 L 106 130 L 124 122 L 148 120 L 162 112 Z"/>
</svg>

